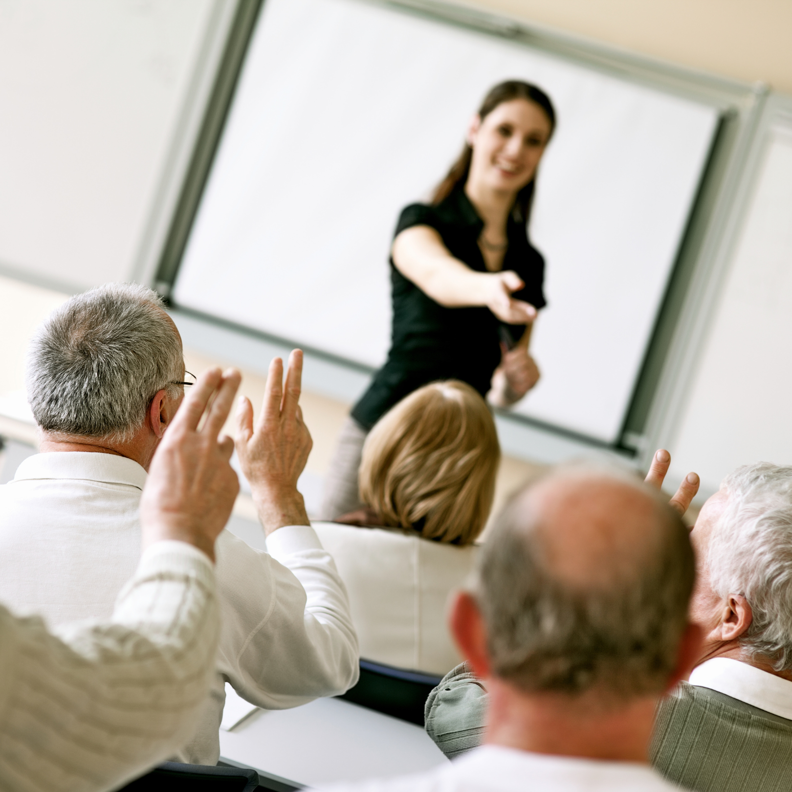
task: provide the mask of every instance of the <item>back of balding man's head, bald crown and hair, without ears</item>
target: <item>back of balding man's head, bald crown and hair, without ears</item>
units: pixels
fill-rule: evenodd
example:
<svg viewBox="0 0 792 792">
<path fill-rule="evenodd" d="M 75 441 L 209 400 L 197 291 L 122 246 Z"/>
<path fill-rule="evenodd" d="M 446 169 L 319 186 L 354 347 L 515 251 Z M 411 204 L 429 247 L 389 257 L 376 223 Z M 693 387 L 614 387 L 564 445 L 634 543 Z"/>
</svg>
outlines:
<svg viewBox="0 0 792 792">
<path fill-rule="evenodd" d="M 477 574 L 493 672 L 526 691 L 657 692 L 675 668 L 687 530 L 626 474 L 565 469 L 518 493 Z"/>
</svg>

